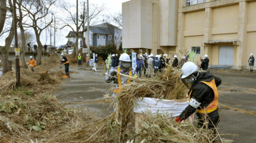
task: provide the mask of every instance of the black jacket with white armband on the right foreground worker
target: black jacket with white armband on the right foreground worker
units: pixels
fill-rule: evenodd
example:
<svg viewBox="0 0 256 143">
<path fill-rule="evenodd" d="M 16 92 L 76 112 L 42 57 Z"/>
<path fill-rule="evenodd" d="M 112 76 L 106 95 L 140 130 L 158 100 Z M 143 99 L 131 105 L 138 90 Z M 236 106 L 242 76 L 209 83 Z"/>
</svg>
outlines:
<svg viewBox="0 0 256 143">
<path fill-rule="evenodd" d="M 214 99 L 214 91 L 205 83 L 200 83 L 202 81 L 210 82 L 212 79 L 215 79 L 215 84 L 217 87 L 221 85 L 221 79 L 219 77 L 212 75 L 210 71 L 202 72 L 196 79 L 195 86 L 193 86 L 188 92 L 189 95 L 190 91 L 193 89 L 190 99 L 193 98 L 197 102 L 201 103 L 198 109 L 203 109 L 207 107 Z M 191 105 L 188 105 L 185 108 L 185 110 L 180 114 L 180 119 L 187 119 L 195 111 L 196 108 L 192 107 Z"/>
</svg>

